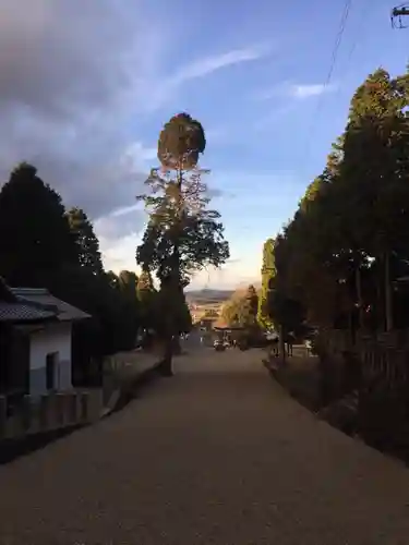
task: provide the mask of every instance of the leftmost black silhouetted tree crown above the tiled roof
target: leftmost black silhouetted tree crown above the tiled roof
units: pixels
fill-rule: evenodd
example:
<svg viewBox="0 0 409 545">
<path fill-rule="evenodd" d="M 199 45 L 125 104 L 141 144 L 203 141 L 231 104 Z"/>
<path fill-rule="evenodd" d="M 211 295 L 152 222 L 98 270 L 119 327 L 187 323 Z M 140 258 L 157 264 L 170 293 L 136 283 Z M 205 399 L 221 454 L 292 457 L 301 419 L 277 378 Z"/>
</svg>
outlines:
<svg viewBox="0 0 409 545">
<path fill-rule="evenodd" d="M 45 276 L 77 263 L 79 254 L 60 195 L 32 165 L 19 165 L 0 192 L 0 255 L 14 286 L 41 286 Z"/>
</svg>

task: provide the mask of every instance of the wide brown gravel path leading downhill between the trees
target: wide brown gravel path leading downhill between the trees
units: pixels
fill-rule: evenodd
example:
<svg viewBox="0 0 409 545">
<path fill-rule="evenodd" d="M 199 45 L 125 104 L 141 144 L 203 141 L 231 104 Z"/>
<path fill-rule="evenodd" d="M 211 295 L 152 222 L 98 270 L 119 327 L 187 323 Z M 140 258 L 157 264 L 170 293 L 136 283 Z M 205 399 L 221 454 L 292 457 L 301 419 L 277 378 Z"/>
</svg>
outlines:
<svg viewBox="0 0 409 545">
<path fill-rule="evenodd" d="M 408 470 L 317 422 L 256 351 L 196 354 L 1 467 L 0 544 L 409 543 Z"/>
</svg>

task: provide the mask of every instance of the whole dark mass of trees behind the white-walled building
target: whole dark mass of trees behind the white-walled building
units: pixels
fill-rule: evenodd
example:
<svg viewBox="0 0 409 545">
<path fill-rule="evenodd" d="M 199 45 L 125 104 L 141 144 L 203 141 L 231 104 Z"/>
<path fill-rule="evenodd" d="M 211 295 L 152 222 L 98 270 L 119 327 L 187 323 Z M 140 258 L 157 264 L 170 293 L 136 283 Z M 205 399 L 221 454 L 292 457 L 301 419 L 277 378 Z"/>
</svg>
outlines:
<svg viewBox="0 0 409 545">
<path fill-rule="evenodd" d="M 61 196 L 25 162 L 0 191 L 0 276 L 10 286 L 47 288 L 92 315 L 74 325 L 74 380 L 77 373 L 85 379 L 91 356 L 135 346 L 143 306 L 135 275 L 104 271 L 85 211 L 67 211 Z"/>
</svg>

